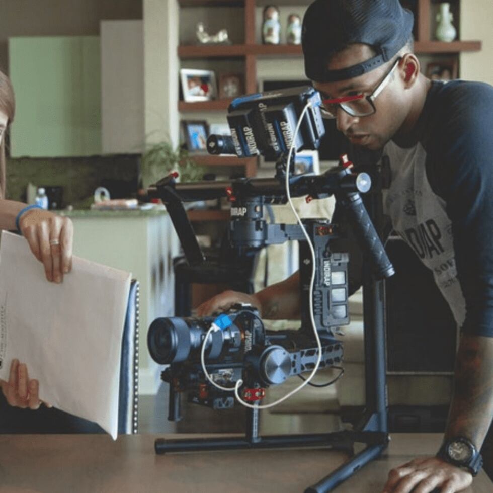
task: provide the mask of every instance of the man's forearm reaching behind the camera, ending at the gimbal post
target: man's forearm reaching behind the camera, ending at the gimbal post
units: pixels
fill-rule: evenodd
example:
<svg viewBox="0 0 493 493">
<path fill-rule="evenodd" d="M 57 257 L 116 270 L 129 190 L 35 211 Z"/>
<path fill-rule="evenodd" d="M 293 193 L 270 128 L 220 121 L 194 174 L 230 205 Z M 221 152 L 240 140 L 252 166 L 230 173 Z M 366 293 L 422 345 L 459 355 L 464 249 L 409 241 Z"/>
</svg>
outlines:
<svg viewBox="0 0 493 493">
<path fill-rule="evenodd" d="M 255 293 L 261 305 L 262 317 L 295 319 L 300 316 L 299 273 Z"/>
</svg>

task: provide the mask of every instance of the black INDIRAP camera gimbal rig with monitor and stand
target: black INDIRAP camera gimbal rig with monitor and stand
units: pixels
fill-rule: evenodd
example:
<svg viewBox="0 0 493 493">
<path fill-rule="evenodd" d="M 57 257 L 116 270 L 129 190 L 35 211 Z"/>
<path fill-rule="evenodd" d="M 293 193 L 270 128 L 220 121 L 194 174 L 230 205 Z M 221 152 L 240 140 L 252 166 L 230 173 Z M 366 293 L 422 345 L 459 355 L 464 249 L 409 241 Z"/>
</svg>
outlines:
<svg viewBox="0 0 493 493">
<path fill-rule="evenodd" d="M 300 330 L 268 331 L 258 311 L 249 305 L 234 305 L 210 317 L 157 318 L 151 323 L 147 338 L 150 355 L 159 364 L 169 365 L 161 374 L 169 383 L 168 419 L 181 419 L 183 393 L 191 402 L 222 409 L 234 404 L 234 397 L 224 386 L 232 390 L 240 383 L 241 399 L 249 403 L 244 438 L 157 439 L 156 453 L 305 446 L 352 452 L 346 463 L 309 487 L 309 492 L 331 490 L 387 446 L 383 279 L 394 272 L 360 196 L 371 186 L 366 173 L 354 173 L 351 163 L 344 159 L 342 166 L 323 175 L 294 175 L 294 152 L 316 149 L 324 134 L 319 104 L 319 94 L 310 87 L 237 98 L 227 115 L 231 137 L 209 137 L 207 146 L 212 154 L 235 153 L 244 157 L 261 153 L 276 158 L 273 178 L 178 183 L 177 175 L 171 174 L 148 190 L 150 197 L 160 198 L 166 205 L 190 265 L 200 267 L 207 261 L 184 202 L 227 197 L 232 204 L 229 241 L 240 251 L 299 241 Z M 349 256 L 332 248 L 341 234 L 339 225 L 318 218 L 304 219 L 302 225 L 269 224 L 263 217 L 264 205 L 286 203 L 286 184 L 293 197 L 307 196 L 311 200 L 334 195 L 347 211 L 364 252 L 366 408 L 351 431 L 259 436 L 259 402 L 266 387 L 313 371 L 316 361 L 320 368 L 340 363 L 343 345 L 335 338 L 333 328 L 349 323 Z M 369 196 L 371 200 L 367 202 L 378 226 L 381 196 L 375 187 Z M 314 266 L 307 239 L 313 245 Z M 212 331 L 211 327 L 217 330 Z M 315 343 L 314 330 L 319 344 Z M 354 454 L 356 442 L 366 447 Z"/>
</svg>

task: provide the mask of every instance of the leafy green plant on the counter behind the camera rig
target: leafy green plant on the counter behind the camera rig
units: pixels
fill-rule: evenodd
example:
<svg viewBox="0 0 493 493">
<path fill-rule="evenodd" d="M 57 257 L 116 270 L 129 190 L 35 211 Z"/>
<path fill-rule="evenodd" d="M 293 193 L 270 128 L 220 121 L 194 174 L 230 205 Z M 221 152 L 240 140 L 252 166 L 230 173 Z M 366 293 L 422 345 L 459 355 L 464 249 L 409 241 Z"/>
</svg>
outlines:
<svg viewBox="0 0 493 493">
<path fill-rule="evenodd" d="M 164 140 L 147 144 L 140 166 L 142 187 L 146 189 L 173 171 L 178 172 L 181 182 L 198 181 L 203 176 L 203 170 L 186 149 L 175 148 Z"/>
</svg>

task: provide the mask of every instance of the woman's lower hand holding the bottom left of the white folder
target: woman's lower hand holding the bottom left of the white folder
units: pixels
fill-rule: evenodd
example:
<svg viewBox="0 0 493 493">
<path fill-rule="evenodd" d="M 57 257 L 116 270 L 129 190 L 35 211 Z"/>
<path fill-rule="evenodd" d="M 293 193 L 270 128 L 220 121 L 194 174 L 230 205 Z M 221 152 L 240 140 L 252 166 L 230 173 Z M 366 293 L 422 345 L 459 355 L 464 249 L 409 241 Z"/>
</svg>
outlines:
<svg viewBox="0 0 493 493">
<path fill-rule="evenodd" d="M 27 367 L 19 360 L 13 360 L 10 366 L 9 381 L 0 380 L 2 392 L 7 402 L 16 407 L 38 409 L 42 402 L 39 400 L 39 383 L 29 380 Z M 49 404 L 45 404 L 51 407 Z"/>
</svg>

